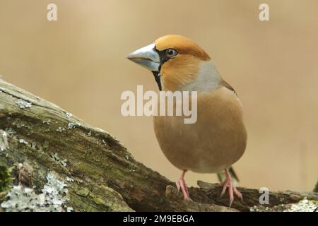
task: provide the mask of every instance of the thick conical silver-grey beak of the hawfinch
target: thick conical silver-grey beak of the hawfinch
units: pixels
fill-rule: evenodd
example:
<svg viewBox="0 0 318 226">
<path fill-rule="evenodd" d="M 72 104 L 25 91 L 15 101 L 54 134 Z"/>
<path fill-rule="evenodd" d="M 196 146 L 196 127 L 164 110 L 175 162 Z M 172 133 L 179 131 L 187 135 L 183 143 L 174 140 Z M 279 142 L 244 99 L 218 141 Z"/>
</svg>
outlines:
<svg viewBox="0 0 318 226">
<path fill-rule="evenodd" d="M 151 71 L 159 71 L 160 68 L 160 57 L 158 52 L 155 51 L 155 44 L 148 44 L 146 47 L 137 49 L 129 54 L 127 59 Z"/>
</svg>

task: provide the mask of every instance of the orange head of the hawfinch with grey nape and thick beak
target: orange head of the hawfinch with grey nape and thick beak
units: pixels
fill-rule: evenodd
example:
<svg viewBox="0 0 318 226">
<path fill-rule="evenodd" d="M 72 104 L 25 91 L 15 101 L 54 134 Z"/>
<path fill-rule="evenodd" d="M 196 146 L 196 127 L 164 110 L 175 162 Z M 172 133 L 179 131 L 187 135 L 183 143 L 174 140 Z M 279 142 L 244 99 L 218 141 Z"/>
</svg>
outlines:
<svg viewBox="0 0 318 226">
<path fill-rule="evenodd" d="M 201 90 L 217 73 L 204 49 L 181 35 L 160 37 L 127 58 L 152 71 L 160 90 Z"/>
</svg>

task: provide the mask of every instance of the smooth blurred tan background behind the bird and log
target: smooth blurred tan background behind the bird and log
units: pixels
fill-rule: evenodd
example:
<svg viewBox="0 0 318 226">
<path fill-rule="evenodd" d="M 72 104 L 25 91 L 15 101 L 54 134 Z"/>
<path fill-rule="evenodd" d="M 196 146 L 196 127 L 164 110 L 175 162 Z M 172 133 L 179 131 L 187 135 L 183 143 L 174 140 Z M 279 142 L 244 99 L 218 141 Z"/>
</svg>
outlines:
<svg viewBox="0 0 318 226">
<path fill-rule="evenodd" d="M 57 4 L 56 22 L 47 4 Z M 259 20 L 259 4 L 270 21 Z M 151 117 L 122 117 L 124 90 L 157 90 L 126 60 L 167 34 L 192 38 L 245 107 L 241 186 L 311 191 L 318 176 L 318 1 L 0 0 L 0 74 L 117 136 L 136 160 L 175 180 Z M 217 182 L 214 174 L 186 175 Z"/>
</svg>

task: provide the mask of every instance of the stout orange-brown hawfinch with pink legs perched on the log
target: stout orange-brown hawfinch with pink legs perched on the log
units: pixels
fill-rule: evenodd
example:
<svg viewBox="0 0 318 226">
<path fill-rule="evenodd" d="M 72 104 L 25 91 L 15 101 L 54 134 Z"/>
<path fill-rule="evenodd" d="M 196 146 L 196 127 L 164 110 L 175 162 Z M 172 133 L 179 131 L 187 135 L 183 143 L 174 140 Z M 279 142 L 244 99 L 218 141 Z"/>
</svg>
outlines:
<svg viewBox="0 0 318 226">
<path fill-rule="evenodd" d="M 184 124 L 182 117 L 153 116 L 160 149 L 182 170 L 177 189 L 189 200 L 186 172 L 225 173 L 220 196 L 228 190 L 230 206 L 235 186 L 232 165 L 247 146 L 242 103 L 232 86 L 220 76 L 211 57 L 199 44 L 182 35 L 165 35 L 131 52 L 127 59 L 150 70 L 160 91 L 196 91 L 197 119 Z"/>
</svg>

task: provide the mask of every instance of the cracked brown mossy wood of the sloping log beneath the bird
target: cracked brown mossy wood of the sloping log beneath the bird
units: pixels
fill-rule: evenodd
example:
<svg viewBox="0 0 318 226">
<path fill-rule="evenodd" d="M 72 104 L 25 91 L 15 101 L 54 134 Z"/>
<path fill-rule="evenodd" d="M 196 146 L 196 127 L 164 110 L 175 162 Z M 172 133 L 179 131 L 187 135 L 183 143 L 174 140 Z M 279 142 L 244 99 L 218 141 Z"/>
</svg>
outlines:
<svg viewBox="0 0 318 226">
<path fill-rule="evenodd" d="M 0 129 L 8 133 L 8 147 L 0 151 L 0 166 L 28 162 L 33 167 L 29 183 L 36 191 L 50 171 L 61 179 L 73 179 L 67 182 L 68 196 L 69 206 L 76 211 L 248 211 L 259 206 L 257 189 L 239 188 L 244 201 L 235 200 L 228 208 L 228 196 L 219 198 L 221 187 L 205 182 L 189 189 L 192 201 L 183 201 L 174 183 L 134 160 L 110 133 L 1 79 L 0 90 Z M 32 106 L 20 108 L 19 99 Z M 52 157 L 55 153 L 67 160 L 66 165 Z M 17 175 L 16 180 L 19 178 Z M 0 194 L 0 203 L 4 194 Z M 265 206 L 278 210 L 281 204 L 305 197 L 318 200 L 314 192 L 271 192 Z"/>
</svg>

